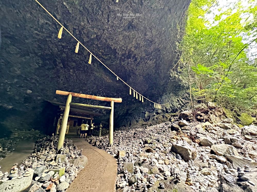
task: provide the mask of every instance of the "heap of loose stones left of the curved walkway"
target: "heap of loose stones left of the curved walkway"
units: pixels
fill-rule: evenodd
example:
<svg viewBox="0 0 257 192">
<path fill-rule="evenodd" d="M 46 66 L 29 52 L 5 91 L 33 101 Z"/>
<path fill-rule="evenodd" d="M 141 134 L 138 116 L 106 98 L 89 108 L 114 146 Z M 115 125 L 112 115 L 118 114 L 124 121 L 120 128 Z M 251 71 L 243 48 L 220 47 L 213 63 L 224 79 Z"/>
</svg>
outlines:
<svg viewBox="0 0 257 192">
<path fill-rule="evenodd" d="M 65 139 L 60 150 L 57 150 L 57 141 L 54 135 L 39 139 L 34 152 L 21 165 L 14 164 L 10 173 L 0 172 L 0 188 L 8 180 L 17 180 L 19 184 L 19 179 L 32 174 L 33 180 L 30 180 L 31 185 L 27 191 L 65 191 L 84 168 L 85 162 L 81 159 L 86 157 L 72 140 Z"/>
</svg>

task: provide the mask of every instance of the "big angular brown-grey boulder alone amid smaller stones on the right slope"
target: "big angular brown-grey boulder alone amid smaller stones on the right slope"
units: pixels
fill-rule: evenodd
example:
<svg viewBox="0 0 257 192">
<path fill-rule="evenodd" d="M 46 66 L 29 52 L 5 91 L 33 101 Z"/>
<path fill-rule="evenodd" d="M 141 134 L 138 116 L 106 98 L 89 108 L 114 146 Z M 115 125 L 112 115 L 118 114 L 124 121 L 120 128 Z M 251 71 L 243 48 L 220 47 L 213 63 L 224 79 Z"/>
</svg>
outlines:
<svg viewBox="0 0 257 192">
<path fill-rule="evenodd" d="M 182 142 L 173 143 L 171 151 L 178 153 L 185 161 L 189 161 L 190 159 L 194 160 L 197 156 L 195 148 L 188 143 L 186 143 L 185 146 L 182 146 Z"/>
</svg>

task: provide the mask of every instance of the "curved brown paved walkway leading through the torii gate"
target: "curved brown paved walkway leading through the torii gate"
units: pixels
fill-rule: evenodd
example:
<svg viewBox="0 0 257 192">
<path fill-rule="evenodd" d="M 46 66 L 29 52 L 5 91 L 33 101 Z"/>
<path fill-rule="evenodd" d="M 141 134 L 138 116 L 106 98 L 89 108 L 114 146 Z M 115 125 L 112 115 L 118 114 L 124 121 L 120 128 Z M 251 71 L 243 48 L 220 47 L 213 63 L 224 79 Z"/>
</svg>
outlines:
<svg viewBox="0 0 257 192">
<path fill-rule="evenodd" d="M 85 139 L 72 140 L 79 149 L 83 149 L 88 163 L 66 192 L 115 192 L 117 160 Z"/>
</svg>

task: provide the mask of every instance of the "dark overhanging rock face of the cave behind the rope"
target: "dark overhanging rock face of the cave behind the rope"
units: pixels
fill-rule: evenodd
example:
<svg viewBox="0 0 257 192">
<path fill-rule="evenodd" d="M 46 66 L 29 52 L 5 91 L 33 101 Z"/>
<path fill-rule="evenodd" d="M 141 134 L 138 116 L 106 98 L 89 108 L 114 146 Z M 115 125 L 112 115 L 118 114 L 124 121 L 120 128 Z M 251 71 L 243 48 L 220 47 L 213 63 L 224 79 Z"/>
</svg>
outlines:
<svg viewBox="0 0 257 192">
<path fill-rule="evenodd" d="M 190 0 L 42 1 L 68 30 L 135 90 L 157 101 L 168 89 L 169 70 L 177 58 L 177 24 L 183 28 Z M 106 97 L 121 97 L 115 114 L 141 114 L 148 102 L 136 104 L 128 88 L 102 64 L 92 59 L 34 1 L 0 2 L 0 110 L 1 128 L 40 129 L 55 113 L 44 100 L 65 102 L 55 91 L 65 90 Z M 164 100 L 169 100 L 168 98 Z M 105 104 L 91 100 L 73 101 Z M 117 125 L 123 120 L 118 118 Z M 131 121 L 130 121 L 131 123 Z"/>
</svg>

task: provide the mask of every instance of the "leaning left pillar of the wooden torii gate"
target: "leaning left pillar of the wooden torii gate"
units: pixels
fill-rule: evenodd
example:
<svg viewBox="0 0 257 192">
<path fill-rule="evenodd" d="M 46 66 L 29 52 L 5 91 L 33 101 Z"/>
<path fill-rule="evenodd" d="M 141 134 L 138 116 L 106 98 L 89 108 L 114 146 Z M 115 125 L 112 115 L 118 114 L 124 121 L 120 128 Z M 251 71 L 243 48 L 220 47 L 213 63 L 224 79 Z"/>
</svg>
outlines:
<svg viewBox="0 0 257 192">
<path fill-rule="evenodd" d="M 58 144 L 57 144 L 57 149 L 60 149 L 63 146 L 65 132 L 66 132 L 66 128 L 67 128 L 68 117 L 69 117 L 71 98 L 72 98 L 72 96 L 71 96 L 71 94 L 69 94 L 67 101 L 66 101 L 65 110 L 63 113 L 62 125 L 61 125 L 59 140 L 58 140 Z"/>
</svg>

